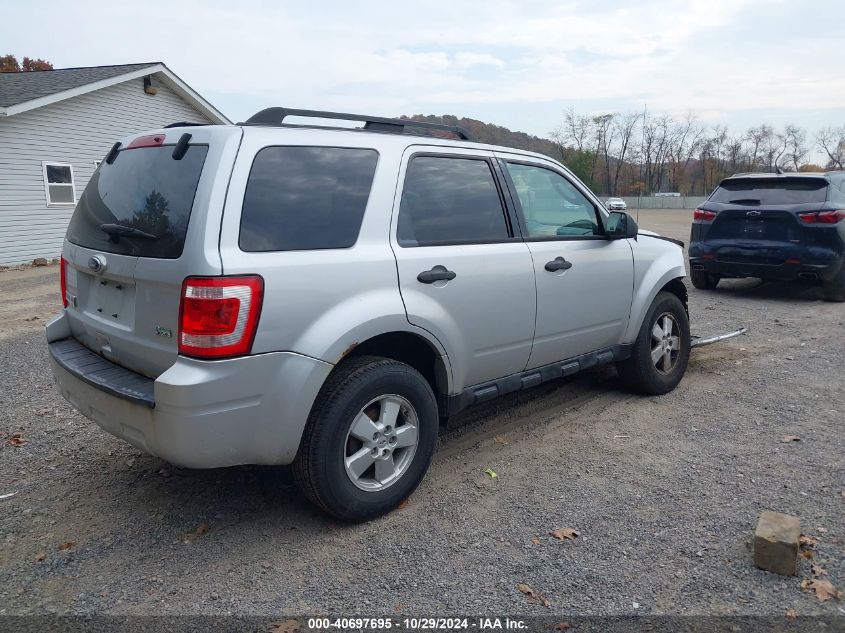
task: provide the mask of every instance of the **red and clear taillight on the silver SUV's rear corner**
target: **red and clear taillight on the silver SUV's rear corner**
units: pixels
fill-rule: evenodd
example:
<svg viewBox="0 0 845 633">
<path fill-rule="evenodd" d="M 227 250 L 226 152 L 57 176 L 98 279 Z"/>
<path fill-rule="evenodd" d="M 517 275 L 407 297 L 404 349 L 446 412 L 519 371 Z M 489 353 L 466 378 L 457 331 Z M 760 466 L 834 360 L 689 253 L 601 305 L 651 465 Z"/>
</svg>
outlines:
<svg viewBox="0 0 845 633">
<path fill-rule="evenodd" d="M 258 275 L 188 277 L 179 306 L 179 353 L 196 358 L 249 354 L 264 280 Z"/>
</svg>

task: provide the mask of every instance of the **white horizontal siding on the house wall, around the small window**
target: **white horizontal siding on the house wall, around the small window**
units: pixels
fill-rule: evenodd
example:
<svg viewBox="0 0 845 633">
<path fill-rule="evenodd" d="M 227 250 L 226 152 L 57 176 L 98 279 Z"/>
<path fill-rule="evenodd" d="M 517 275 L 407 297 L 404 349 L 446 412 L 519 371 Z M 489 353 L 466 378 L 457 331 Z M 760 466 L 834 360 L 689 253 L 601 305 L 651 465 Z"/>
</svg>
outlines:
<svg viewBox="0 0 845 633">
<path fill-rule="evenodd" d="M 76 198 L 120 138 L 177 121 L 208 123 L 176 93 L 133 79 L 0 117 L 0 265 L 58 257 L 72 206 L 47 206 L 41 162 L 70 163 Z"/>
</svg>

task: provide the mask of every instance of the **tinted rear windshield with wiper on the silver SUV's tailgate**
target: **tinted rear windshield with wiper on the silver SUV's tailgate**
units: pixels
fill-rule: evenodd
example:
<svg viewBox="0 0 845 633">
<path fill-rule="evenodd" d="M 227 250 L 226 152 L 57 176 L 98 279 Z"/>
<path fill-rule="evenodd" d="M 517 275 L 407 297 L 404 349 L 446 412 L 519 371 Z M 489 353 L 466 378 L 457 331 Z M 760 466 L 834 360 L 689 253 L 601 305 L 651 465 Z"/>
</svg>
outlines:
<svg viewBox="0 0 845 633">
<path fill-rule="evenodd" d="M 68 227 L 79 246 L 107 253 L 176 259 L 182 254 L 207 145 L 121 150 L 94 172 Z"/>
</svg>

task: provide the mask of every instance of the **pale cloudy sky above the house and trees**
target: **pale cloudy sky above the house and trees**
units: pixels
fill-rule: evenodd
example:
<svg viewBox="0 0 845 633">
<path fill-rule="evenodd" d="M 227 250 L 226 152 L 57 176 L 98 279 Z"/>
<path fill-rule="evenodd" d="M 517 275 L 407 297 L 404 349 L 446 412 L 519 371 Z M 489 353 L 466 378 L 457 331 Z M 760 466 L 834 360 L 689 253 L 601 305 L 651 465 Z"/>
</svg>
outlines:
<svg viewBox="0 0 845 633">
<path fill-rule="evenodd" d="M 845 125 L 843 33 L 843 0 L 4 0 L 0 54 L 163 61 L 234 121 L 280 105 L 545 136 L 569 107 L 648 108 L 812 135 Z"/>
</svg>

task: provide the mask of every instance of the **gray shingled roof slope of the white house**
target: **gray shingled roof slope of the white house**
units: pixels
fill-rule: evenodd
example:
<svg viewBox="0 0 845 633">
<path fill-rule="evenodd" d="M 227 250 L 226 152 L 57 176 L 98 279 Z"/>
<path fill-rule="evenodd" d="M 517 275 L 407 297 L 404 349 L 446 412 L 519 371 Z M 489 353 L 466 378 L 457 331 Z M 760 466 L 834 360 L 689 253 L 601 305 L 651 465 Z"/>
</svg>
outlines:
<svg viewBox="0 0 845 633">
<path fill-rule="evenodd" d="M 26 103 L 57 92 L 79 88 L 103 79 L 111 79 L 161 62 L 123 64 L 120 66 L 91 66 L 88 68 L 60 68 L 20 73 L 0 73 L 0 108 Z"/>
</svg>

